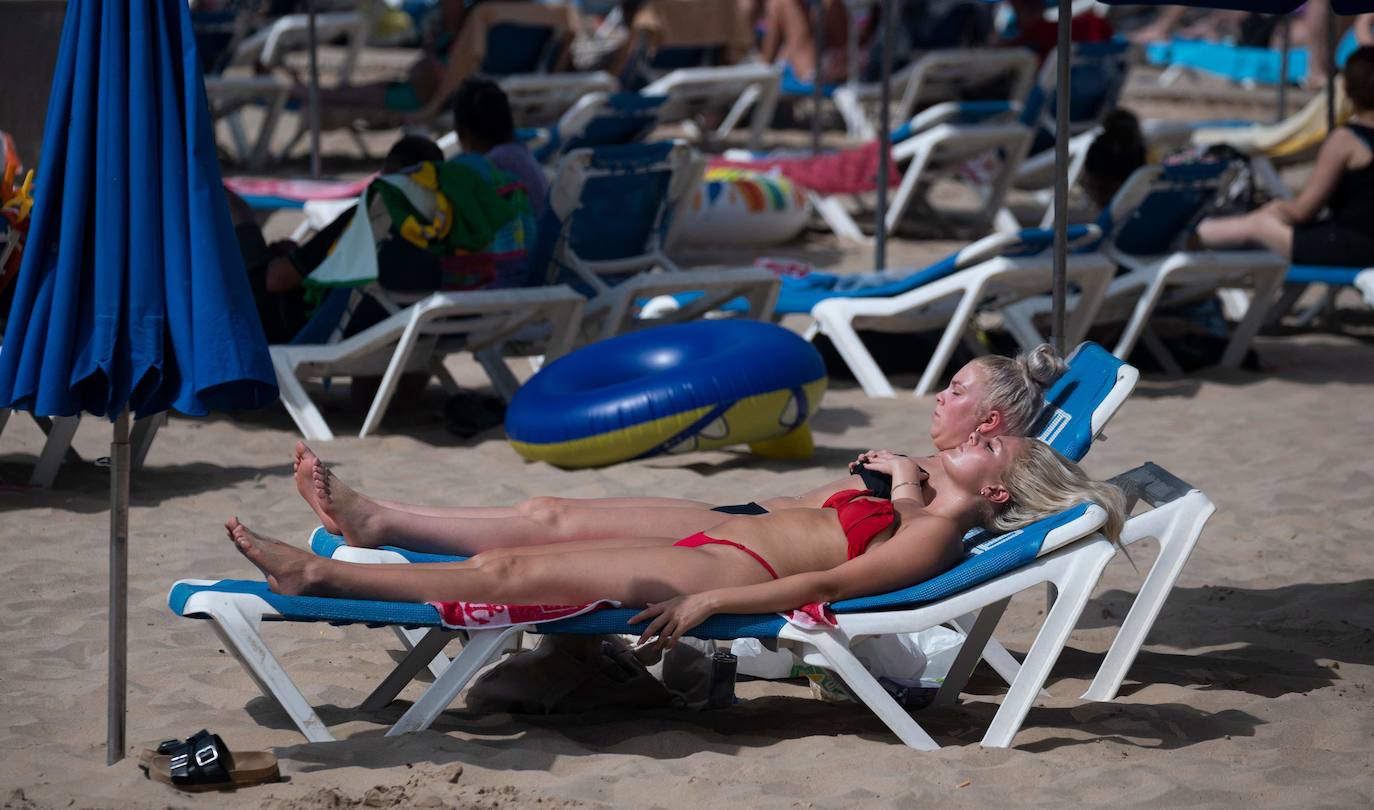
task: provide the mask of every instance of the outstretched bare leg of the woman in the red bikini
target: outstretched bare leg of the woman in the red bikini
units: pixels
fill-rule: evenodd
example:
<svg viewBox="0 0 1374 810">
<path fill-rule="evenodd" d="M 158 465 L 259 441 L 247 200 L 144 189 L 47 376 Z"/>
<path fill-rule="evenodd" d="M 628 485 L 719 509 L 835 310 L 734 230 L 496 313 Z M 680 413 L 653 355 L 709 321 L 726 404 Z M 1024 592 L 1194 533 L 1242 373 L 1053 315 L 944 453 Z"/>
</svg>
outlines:
<svg viewBox="0 0 1374 810">
<path fill-rule="evenodd" d="M 236 518 L 225 529 L 268 585 L 287 594 L 497 604 L 614 599 L 640 605 L 710 588 L 768 581 L 768 574 L 747 555 L 724 546 L 631 546 L 523 556 L 497 552 L 466 563 L 379 566 L 316 557 L 257 535 Z"/>
</svg>

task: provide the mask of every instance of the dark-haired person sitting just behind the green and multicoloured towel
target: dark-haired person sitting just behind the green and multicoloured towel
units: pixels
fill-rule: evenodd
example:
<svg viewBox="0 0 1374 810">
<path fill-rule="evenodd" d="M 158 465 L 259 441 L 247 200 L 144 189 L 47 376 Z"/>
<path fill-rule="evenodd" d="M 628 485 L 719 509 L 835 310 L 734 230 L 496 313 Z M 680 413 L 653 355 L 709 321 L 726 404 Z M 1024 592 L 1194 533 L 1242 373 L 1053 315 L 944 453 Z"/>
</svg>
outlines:
<svg viewBox="0 0 1374 810">
<path fill-rule="evenodd" d="M 459 85 L 453 97 L 453 132 L 464 152 L 485 155 L 497 169 L 514 174 L 525 188 L 534 216 L 543 216 L 548 198 L 544 169 L 529 147 L 515 140 L 510 99 L 496 82 L 469 78 Z"/>
</svg>

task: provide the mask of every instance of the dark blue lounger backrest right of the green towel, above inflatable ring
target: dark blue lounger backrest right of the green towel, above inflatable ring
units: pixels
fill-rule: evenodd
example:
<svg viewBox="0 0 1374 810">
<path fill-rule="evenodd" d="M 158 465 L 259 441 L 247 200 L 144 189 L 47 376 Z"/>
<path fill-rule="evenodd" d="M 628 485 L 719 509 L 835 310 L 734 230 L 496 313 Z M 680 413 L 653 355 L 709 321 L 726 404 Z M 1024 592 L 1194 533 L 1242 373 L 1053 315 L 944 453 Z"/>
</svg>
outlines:
<svg viewBox="0 0 1374 810">
<path fill-rule="evenodd" d="M 596 147 L 563 157 L 539 222 L 526 276 L 588 292 L 603 275 L 662 258 L 673 207 L 691 191 L 691 150 L 676 141 Z"/>
</svg>

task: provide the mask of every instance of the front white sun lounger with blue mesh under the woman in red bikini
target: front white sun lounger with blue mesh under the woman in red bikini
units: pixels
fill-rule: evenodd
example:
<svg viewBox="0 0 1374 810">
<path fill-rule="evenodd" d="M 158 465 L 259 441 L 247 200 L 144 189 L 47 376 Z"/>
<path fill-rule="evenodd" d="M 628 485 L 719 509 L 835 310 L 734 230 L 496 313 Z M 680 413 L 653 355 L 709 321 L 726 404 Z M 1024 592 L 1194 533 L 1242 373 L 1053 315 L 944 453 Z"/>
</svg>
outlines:
<svg viewBox="0 0 1374 810">
<path fill-rule="evenodd" d="M 962 563 L 940 577 L 897 592 L 835 603 L 837 627 L 800 627 L 776 614 L 717 615 L 698 626 L 692 636 L 776 638 L 794 644 L 804 660 L 835 671 L 903 743 L 930 751 L 938 744 L 849 652 L 851 641 L 863 636 L 919 632 L 1004 603 L 1026 588 L 1051 582 L 1059 599 L 1047 612 L 1026 660 L 982 739 L 984 745 L 1007 747 L 1077 625 L 1102 568 L 1116 553 L 1114 546 L 1096 534 L 1103 520 L 1105 512 L 1099 507 L 1080 504 L 993 538 L 971 549 Z M 181 581 L 172 586 L 168 604 L 181 616 L 210 619 L 225 648 L 312 741 L 331 740 L 333 736 L 264 643 L 260 634 L 262 621 L 429 627 L 426 640 L 378 686 L 367 706 L 389 702 L 453 636 L 442 629 L 438 612 L 430 605 L 279 596 L 271 593 L 264 582 Z M 635 612 L 632 608 L 600 610 L 550 625 L 469 630 L 470 640 L 452 666 L 387 734 L 429 728 L 514 633 L 633 633 L 636 626 L 628 625 L 627 619 Z"/>
</svg>

